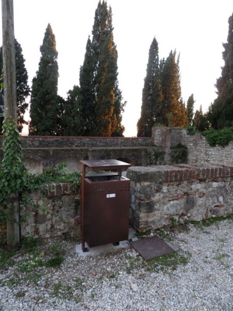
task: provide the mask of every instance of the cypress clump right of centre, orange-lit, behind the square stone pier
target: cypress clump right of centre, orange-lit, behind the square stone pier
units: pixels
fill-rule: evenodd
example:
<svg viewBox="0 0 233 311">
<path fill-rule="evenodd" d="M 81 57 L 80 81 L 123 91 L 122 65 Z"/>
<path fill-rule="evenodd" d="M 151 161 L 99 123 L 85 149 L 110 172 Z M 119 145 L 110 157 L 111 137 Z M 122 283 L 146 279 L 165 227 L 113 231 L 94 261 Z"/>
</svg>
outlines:
<svg viewBox="0 0 233 311">
<path fill-rule="evenodd" d="M 137 136 L 151 136 L 154 124 L 183 127 L 187 123 L 187 112 L 181 97 L 180 55 L 176 51 L 159 61 L 158 43 L 153 39 L 147 65 L 147 75 L 142 92 L 141 117 L 137 122 Z M 189 114 L 192 114 L 191 104 Z"/>
</svg>

